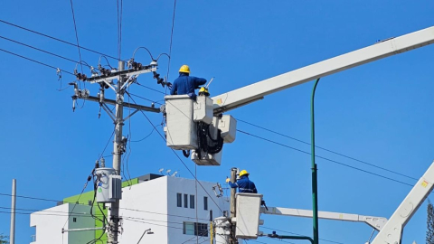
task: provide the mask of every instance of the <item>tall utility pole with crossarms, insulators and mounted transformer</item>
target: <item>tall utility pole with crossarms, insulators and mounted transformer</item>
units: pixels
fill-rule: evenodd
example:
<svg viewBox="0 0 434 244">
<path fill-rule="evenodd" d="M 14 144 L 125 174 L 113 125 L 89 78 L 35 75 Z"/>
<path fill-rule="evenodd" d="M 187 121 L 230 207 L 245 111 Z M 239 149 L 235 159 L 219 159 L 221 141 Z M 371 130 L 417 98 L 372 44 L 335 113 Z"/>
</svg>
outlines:
<svg viewBox="0 0 434 244">
<path fill-rule="evenodd" d="M 70 85 L 74 86 L 74 95 L 72 96 L 72 100 L 73 100 L 72 111 L 75 110 L 75 104 L 77 99 L 95 101 L 99 103 L 99 111 L 101 108 L 104 109 L 104 111 L 107 112 L 107 114 L 115 124 L 115 133 L 114 133 L 115 137 L 113 141 L 113 169 L 109 169 L 109 171 L 107 169 L 100 171 L 99 174 L 104 174 L 104 175 L 99 175 L 99 177 L 107 177 L 109 181 L 114 180 L 113 185 L 111 184 L 111 182 L 109 183 L 109 181 L 107 181 L 106 183 L 107 187 L 105 186 L 105 189 L 108 189 L 106 191 L 109 191 L 111 193 L 113 193 L 114 190 L 118 189 L 116 190 L 118 192 L 115 194 L 116 196 L 109 194 L 109 192 L 106 192 L 107 194 L 97 192 L 97 202 L 110 204 L 109 225 L 106 227 L 108 233 L 108 242 L 107 242 L 108 244 L 118 244 L 118 234 L 119 234 L 119 229 L 121 229 L 119 227 L 121 223 L 121 218 L 119 218 L 119 202 L 121 199 L 120 171 L 121 171 L 122 155 L 125 153 L 127 148 L 127 138 L 125 136 L 122 136 L 122 127 L 124 126 L 124 122 L 130 117 L 132 117 L 133 115 L 135 115 L 138 111 L 160 113 L 160 109 L 154 108 L 154 106 L 146 107 L 143 105 L 138 105 L 136 103 L 133 104 L 126 103 L 124 102 L 124 95 L 127 93 L 127 88 L 131 84 L 137 82 L 137 77 L 143 73 L 152 72 L 154 74 L 154 79 L 156 79 L 157 81 L 156 82 L 157 84 L 161 84 L 163 87 L 165 87 L 165 85 L 170 86 L 171 85 L 170 83 L 159 78 L 160 75 L 156 73 L 157 66 L 158 63 L 154 60 L 149 65 L 142 65 L 141 63 L 134 61 L 134 59 L 131 59 L 130 61 L 128 61 L 127 70 L 125 69 L 125 61 L 118 61 L 118 70 L 115 69 L 107 70 L 100 65 L 98 69 L 94 69 L 93 67 L 90 67 L 90 70 L 92 72 L 90 77 L 88 77 L 85 74 L 80 74 L 77 72 L 77 70 L 74 70 L 74 74 L 76 75 L 77 80 L 90 82 L 90 84 L 98 83 L 100 85 L 99 94 L 96 97 L 90 96 L 89 89 L 80 89 L 77 82 L 70 83 Z M 99 71 L 97 72 L 95 70 L 99 70 Z M 115 84 L 114 80 L 118 80 L 118 82 Z M 116 93 L 116 99 L 106 99 L 105 89 L 114 90 Z M 127 95 L 129 96 L 129 93 L 127 93 Z M 114 113 L 111 111 L 108 104 L 115 106 L 116 110 Z M 135 110 L 131 112 L 127 117 L 124 117 L 124 111 L 123 111 L 124 107 L 129 109 L 135 109 Z M 114 173 L 107 174 L 108 172 L 110 172 L 110 170 L 112 170 L 112 172 Z M 97 173 L 95 173 L 95 175 L 97 175 Z M 103 182 L 99 181 L 99 183 L 103 183 Z M 98 194 L 102 194 L 102 195 L 98 195 Z M 78 231 L 78 230 L 62 230 L 62 231 Z"/>
</svg>

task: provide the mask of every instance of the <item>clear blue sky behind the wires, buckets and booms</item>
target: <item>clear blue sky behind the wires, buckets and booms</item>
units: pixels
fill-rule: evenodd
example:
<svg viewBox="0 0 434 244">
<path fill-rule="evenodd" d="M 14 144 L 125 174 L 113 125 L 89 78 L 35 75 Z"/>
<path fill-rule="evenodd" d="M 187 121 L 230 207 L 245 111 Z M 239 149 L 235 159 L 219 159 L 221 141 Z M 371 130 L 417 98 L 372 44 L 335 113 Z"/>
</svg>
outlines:
<svg viewBox="0 0 434 244">
<path fill-rule="evenodd" d="M 116 1 L 74 0 L 73 4 L 80 45 L 117 56 Z M 123 1 L 122 59 L 131 58 L 139 46 L 148 48 L 155 56 L 169 52 L 173 7 L 174 2 L 169 0 Z M 182 64 L 189 64 L 192 75 L 215 77 L 210 91 L 218 95 L 363 48 L 377 40 L 427 28 L 434 24 L 433 10 L 431 1 L 179 0 L 169 80 L 175 79 Z M 70 1 L 4 1 L 0 19 L 76 42 Z M 77 48 L 5 23 L 0 23 L 0 35 L 79 60 Z M 63 70 L 73 71 L 75 67 L 71 61 L 4 39 L 0 39 L 0 48 Z M 316 92 L 316 144 L 419 179 L 434 159 L 433 52 L 434 46 L 428 46 L 322 79 Z M 98 54 L 82 50 L 81 58 L 90 65 L 98 65 Z M 136 60 L 150 61 L 143 50 L 137 52 Z M 117 65 L 115 60 L 109 62 Z M 159 72 L 165 75 L 167 59 L 163 57 L 159 63 Z M 0 192 L 10 193 L 12 179 L 16 178 L 19 195 L 61 200 L 80 193 L 112 133 L 109 117 L 102 113 L 98 118 L 98 104 L 91 102 L 72 113 L 72 89 L 56 90 L 61 83 L 54 69 L 5 52 L 0 52 L 0 65 L 3 88 Z M 86 67 L 83 69 L 90 73 Z M 72 80 L 72 76 L 63 73 L 62 86 Z M 151 75 L 142 75 L 138 81 L 164 91 Z M 312 85 L 309 82 L 281 91 L 230 114 L 308 142 Z M 92 95 L 98 92 L 98 86 L 88 84 L 87 88 Z M 146 99 L 163 99 L 162 94 L 137 85 L 131 92 Z M 143 99 L 136 101 L 150 105 Z M 160 114 L 148 116 L 156 125 L 162 120 Z M 128 128 L 127 123 L 124 135 L 132 136 L 132 140 L 140 140 L 152 130 L 141 114 L 131 119 Z M 309 145 L 242 122 L 238 128 L 300 150 L 310 150 Z M 165 168 L 192 178 L 156 133 L 131 143 L 130 149 L 128 169 L 132 177 Z M 105 155 L 110 155 L 111 150 L 109 145 Z M 324 150 L 318 149 L 316 153 L 403 183 L 416 183 Z M 109 165 L 110 160 L 109 157 Z M 186 159 L 184 162 L 194 169 L 193 162 Z M 410 191 L 406 184 L 324 159 L 317 159 L 317 164 L 321 211 L 389 218 Z M 269 206 L 311 208 L 309 155 L 239 133 L 233 144 L 224 146 L 222 165 L 197 167 L 197 177 L 224 183 L 233 166 L 250 172 L 250 179 Z M 17 208 L 40 210 L 52 207 L 53 203 L 20 198 Z M 9 206 L 10 197 L 0 196 L 0 207 Z M 0 233 L 9 233 L 9 216 L 0 213 Z M 312 234 L 309 219 L 278 216 L 262 219 L 264 226 L 273 230 Z M 29 221 L 28 215 L 17 216 L 16 243 L 30 241 L 34 230 L 29 227 Z M 364 243 L 372 231 L 363 223 L 339 221 L 320 221 L 319 229 L 321 239 L 345 244 Z M 424 243 L 425 231 L 426 202 L 405 228 L 403 243 L 413 240 Z"/>
</svg>

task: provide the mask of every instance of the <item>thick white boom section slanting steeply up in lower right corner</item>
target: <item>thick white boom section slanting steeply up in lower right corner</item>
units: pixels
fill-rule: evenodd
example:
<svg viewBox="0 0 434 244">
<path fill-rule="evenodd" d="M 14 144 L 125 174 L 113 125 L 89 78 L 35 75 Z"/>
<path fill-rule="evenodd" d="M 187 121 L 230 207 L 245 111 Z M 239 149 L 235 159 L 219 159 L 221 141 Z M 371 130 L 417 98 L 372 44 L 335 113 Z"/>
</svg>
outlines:
<svg viewBox="0 0 434 244">
<path fill-rule="evenodd" d="M 401 244 L 402 230 L 433 189 L 434 162 L 393 212 L 392 217 L 373 239 L 372 244 Z"/>
</svg>

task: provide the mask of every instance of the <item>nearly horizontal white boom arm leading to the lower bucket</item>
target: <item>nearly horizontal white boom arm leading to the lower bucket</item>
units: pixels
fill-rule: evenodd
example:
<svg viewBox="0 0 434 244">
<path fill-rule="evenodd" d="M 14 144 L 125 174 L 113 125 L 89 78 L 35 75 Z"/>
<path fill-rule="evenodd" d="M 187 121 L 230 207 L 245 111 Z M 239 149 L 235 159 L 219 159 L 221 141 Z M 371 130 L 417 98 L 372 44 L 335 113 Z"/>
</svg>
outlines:
<svg viewBox="0 0 434 244">
<path fill-rule="evenodd" d="M 260 212 L 265 214 L 294 216 L 294 217 L 306 217 L 312 218 L 312 211 L 309 210 L 297 210 L 278 207 L 269 207 L 267 210 L 264 207 L 260 207 Z M 382 227 L 387 222 L 386 218 L 363 216 L 352 213 L 332 212 L 332 211 L 318 211 L 318 218 L 333 221 L 352 221 L 352 222 L 364 222 L 373 227 L 375 230 L 382 230 Z"/>
</svg>

